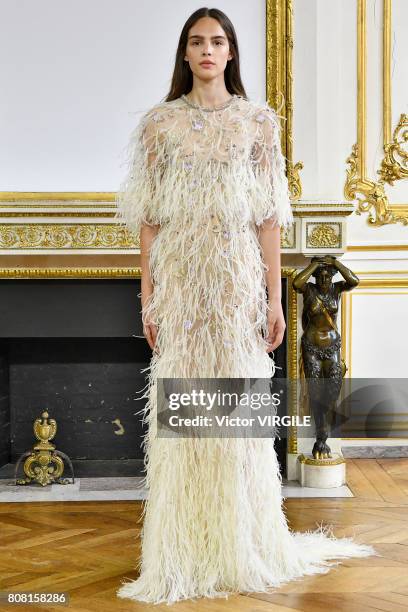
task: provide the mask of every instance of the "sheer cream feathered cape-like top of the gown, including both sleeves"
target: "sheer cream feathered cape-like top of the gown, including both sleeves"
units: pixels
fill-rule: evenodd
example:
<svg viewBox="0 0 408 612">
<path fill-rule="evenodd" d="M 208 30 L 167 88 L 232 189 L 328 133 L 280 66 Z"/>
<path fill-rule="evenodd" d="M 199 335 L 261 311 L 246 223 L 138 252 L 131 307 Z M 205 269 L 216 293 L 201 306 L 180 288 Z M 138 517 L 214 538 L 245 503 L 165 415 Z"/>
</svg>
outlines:
<svg viewBox="0 0 408 612">
<path fill-rule="evenodd" d="M 182 227 L 210 218 L 238 231 L 248 222 L 293 222 L 280 124 L 268 104 L 234 96 L 219 111 L 185 98 L 155 105 L 131 135 L 118 216 Z M 214 215 L 211 217 L 211 215 Z"/>
</svg>

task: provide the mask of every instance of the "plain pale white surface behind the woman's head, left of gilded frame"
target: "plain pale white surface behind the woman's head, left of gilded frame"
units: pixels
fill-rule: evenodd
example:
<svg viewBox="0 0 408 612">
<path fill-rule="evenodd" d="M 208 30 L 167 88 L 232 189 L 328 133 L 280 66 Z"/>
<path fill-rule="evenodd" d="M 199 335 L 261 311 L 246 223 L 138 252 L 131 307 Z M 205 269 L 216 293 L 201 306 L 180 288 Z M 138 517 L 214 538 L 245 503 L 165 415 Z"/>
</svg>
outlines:
<svg viewBox="0 0 408 612">
<path fill-rule="evenodd" d="M 178 0 L 0 0 L 0 191 L 116 191 L 129 133 L 170 87 Z M 211 5 L 210 5 L 211 6 Z M 265 99 L 265 2 L 219 0 Z"/>
</svg>

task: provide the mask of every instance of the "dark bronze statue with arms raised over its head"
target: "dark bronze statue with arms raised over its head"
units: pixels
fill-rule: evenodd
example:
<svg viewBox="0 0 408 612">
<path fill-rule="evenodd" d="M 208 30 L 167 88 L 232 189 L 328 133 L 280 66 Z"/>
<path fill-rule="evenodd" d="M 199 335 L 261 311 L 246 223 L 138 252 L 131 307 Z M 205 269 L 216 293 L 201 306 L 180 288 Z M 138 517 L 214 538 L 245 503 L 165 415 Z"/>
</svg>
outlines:
<svg viewBox="0 0 408 612">
<path fill-rule="evenodd" d="M 344 280 L 333 283 L 332 277 L 337 272 Z M 310 276 L 314 276 L 316 283 L 308 282 Z M 310 412 L 316 425 L 312 450 L 315 459 L 331 457 L 330 447 L 326 444 L 329 414 L 332 414 L 347 370 L 340 356 L 337 311 L 341 293 L 350 291 L 358 283 L 358 277 L 330 255 L 312 257 L 307 268 L 293 280 L 294 289 L 303 294 L 301 359 Z"/>
</svg>

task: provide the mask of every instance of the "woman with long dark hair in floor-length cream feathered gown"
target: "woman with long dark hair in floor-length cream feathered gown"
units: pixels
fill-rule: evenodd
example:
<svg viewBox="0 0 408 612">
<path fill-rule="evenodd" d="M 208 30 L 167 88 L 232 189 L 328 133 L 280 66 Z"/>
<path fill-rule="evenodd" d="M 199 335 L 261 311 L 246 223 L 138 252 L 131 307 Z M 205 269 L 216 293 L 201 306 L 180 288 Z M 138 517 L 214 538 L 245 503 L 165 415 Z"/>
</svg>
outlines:
<svg viewBox="0 0 408 612">
<path fill-rule="evenodd" d="M 140 576 L 118 596 L 151 603 L 266 591 L 371 549 L 292 534 L 272 438 L 157 435 L 157 381 L 269 379 L 283 339 L 280 227 L 293 222 L 279 123 L 246 98 L 229 19 L 199 9 L 171 90 L 141 119 L 118 217 L 140 230 L 142 319 L 154 353 L 143 410 L 149 500 Z M 268 298 L 266 299 L 266 290 Z"/>
</svg>

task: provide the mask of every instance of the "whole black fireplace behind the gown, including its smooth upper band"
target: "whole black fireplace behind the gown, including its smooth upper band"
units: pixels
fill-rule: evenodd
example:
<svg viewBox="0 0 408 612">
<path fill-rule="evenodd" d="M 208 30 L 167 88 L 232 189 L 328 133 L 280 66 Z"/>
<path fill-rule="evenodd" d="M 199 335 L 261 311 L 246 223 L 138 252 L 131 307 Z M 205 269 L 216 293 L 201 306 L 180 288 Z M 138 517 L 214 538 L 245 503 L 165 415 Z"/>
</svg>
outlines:
<svg viewBox="0 0 408 612">
<path fill-rule="evenodd" d="M 139 292 L 139 278 L 0 279 L 0 478 L 12 478 L 32 448 L 44 410 L 76 476 L 143 473 L 144 426 L 135 413 L 144 400 L 135 396 L 151 351 Z M 286 376 L 286 350 L 284 342 L 275 352 L 278 376 Z M 276 444 L 284 468 L 286 441 Z"/>
</svg>

